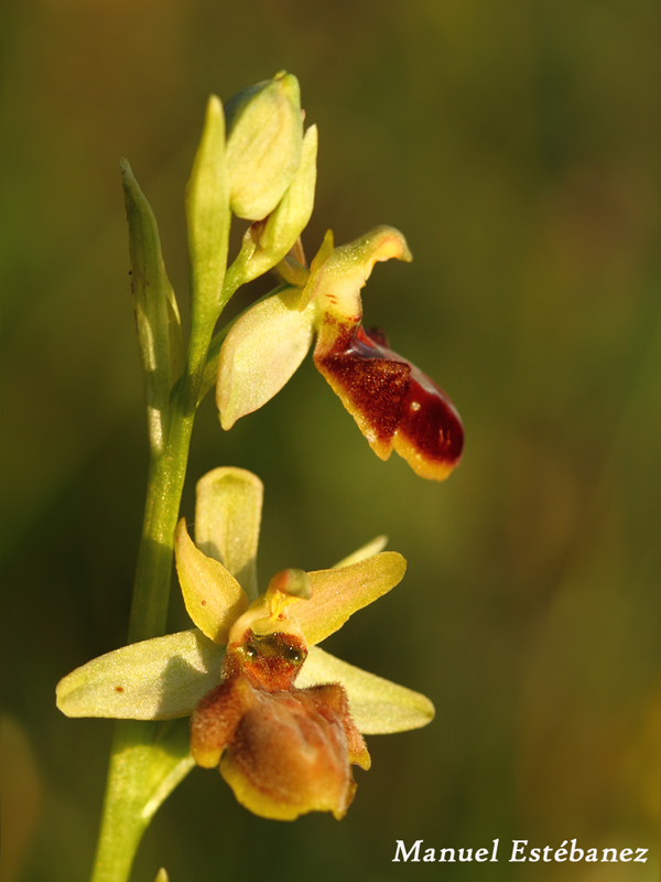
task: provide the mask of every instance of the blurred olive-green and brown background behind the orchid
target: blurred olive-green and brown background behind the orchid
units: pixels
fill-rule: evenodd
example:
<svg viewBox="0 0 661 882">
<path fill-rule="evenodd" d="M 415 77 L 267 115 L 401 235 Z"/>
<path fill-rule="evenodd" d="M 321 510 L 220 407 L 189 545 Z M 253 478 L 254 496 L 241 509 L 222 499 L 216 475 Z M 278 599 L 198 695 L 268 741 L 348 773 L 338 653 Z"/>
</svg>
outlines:
<svg viewBox="0 0 661 882">
<path fill-rule="evenodd" d="M 437 717 L 369 739 L 342 824 L 253 818 L 193 772 L 134 879 L 655 878 L 657 852 L 507 859 L 512 838 L 657 842 L 659 4 L 25 0 L 3 32 L 6 882 L 85 880 L 99 821 L 112 723 L 65 719 L 53 690 L 124 643 L 142 515 L 119 157 L 185 301 L 207 95 L 281 68 L 319 127 L 307 251 L 328 227 L 337 243 L 404 232 L 415 260 L 375 270 L 366 322 L 455 400 L 465 458 L 441 485 L 380 462 L 308 361 L 228 434 L 205 401 L 183 510 L 208 469 L 257 472 L 262 579 L 387 533 L 404 582 L 328 648 L 424 691 Z M 176 590 L 171 626 L 187 626 Z M 497 837 L 498 864 L 392 863 L 397 839 Z"/>
</svg>

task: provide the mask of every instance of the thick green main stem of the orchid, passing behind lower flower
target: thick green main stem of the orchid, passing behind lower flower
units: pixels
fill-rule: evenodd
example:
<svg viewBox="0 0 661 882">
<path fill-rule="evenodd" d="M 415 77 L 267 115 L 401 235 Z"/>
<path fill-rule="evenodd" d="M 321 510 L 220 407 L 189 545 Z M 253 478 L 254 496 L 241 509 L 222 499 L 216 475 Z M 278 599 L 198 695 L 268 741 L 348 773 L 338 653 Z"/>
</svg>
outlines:
<svg viewBox="0 0 661 882">
<path fill-rule="evenodd" d="M 152 454 L 150 462 L 129 643 L 165 633 L 174 528 L 213 327 L 213 322 L 193 320 L 184 379 L 171 402 L 167 441 L 163 452 Z M 152 762 L 155 732 L 153 722 L 116 723 L 91 882 L 129 879 L 142 833 L 158 807 L 148 799 L 159 783 L 154 781 Z M 173 786 L 174 783 L 173 779 Z"/>
</svg>

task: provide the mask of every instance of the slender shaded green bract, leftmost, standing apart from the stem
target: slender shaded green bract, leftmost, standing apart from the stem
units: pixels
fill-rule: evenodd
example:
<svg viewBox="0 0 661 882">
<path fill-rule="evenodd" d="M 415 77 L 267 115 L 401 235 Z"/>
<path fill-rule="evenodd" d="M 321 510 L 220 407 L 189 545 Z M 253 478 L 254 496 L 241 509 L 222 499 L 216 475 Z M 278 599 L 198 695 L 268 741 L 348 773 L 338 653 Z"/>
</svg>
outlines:
<svg viewBox="0 0 661 882">
<path fill-rule="evenodd" d="M 156 218 L 126 159 L 120 162 L 129 222 L 131 289 L 152 450 L 163 449 L 170 391 L 182 370 L 182 327 L 165 272 Z"/>
</svg>

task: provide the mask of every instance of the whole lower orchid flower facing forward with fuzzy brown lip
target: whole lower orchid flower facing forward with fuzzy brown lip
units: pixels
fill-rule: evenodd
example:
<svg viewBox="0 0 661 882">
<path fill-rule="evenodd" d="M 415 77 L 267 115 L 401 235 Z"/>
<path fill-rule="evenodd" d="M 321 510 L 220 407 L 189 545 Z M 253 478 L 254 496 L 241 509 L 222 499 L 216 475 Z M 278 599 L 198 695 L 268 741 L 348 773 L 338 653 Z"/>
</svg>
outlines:
<svg viewBox="0 0 661 882">
<path fill-rule="evenodd" d="M 257 593 L 262 484 L 216 469 L 197 484 L 195 531 L 176 528 L 176 567 L 196 627 L 124 646 L 57 685 L 68 717 L 169 720 L 192 714 L 191 752 L 218 767 L 241 805 L 293 820 L 342 818 L 369 768 L 364 734 L 425 725 L 424 696 L 367 674 L 317 644 L 390 591 L 405 561 L 380 537 L 329 570 L 283 570 Z"/>
</svg>

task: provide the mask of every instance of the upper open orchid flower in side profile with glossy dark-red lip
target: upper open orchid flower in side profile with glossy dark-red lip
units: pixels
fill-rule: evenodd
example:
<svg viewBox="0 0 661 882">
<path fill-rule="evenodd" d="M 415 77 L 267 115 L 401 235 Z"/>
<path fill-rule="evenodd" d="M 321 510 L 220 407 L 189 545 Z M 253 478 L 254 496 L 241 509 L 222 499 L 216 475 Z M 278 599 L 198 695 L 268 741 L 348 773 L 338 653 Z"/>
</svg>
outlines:
<svg viewBox="0 0 661 882">
<path fill-rule="evenodd" d="M 446 394 L 362 325 L 360 290 L 377 261 L 410 261 L 405 239 L 377 227 L 333 247 L 328 232 L 310 270 L 293 257 L 279 270 L 291 287 L 257 303 L 220 351 L 217 402 L 224 429 L 262 407 L 296 370 L 316 333 L 314 363 L 375 453 L 394 449 L 422 477 L 442 481 L 458 464 L 462 420 Z"/>
</svg>

